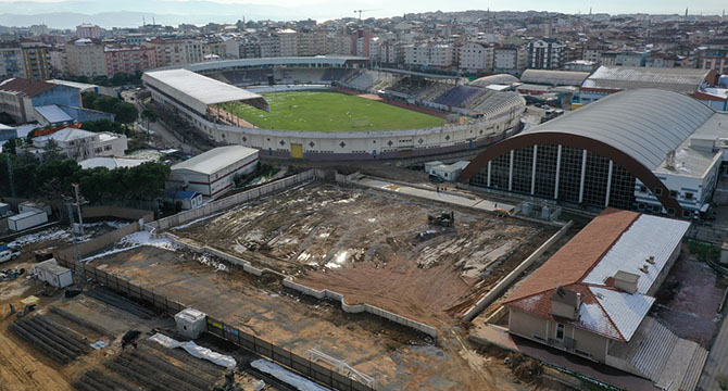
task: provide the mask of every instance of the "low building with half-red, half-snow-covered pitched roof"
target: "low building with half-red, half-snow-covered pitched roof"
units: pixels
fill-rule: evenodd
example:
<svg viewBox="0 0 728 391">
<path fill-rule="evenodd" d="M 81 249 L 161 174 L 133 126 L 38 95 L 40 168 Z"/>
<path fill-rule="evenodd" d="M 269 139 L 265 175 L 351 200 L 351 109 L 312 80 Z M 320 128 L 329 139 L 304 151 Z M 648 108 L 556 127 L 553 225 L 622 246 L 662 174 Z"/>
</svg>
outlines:
<svg viewBox="0 0 728 391">
<path fill-rule="evenodd" d="M 643 356 L 655 352 L 660 338 L 674 337 L 654 332 L 665 327 L 649 312 L 689 227 L 605 210 L 507 297 L 509 332 L 655 382 L 661 370 L 649 370 L 645 360 L 658 369 L 685 368 L 680 360 L 704 352 L 695 342 L 674 338 L 693 352 L 679 358 Z"/>
</svg>

